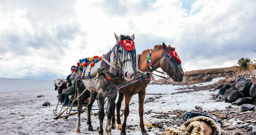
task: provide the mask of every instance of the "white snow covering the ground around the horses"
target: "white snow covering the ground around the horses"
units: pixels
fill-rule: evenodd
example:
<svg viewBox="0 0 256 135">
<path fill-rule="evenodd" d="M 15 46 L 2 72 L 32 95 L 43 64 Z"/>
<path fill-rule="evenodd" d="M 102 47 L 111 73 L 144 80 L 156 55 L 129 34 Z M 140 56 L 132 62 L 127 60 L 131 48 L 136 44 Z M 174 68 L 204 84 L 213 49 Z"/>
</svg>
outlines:
<svg viewBox="0 0 256 135">
<path fill-rule="evenodd" d="M 202 83 L 201 85 L 208 85 L 218 81 L 217 78 L 211 82 Z M 73 134 L 76 127 L 77 116 L 70 116 L 68 119 L 54 120 L 55 115 L 52 110 L 55 109 L 57 104 L 57 91 L 54 90 L 53 82 L 48 83 L 51 89 L 47 90 L 19 90 L 3 92 L 0 95 L 0 134 Z M 200 85 L 200 84 L 197 84 Z M 161 95 L 159 99 L 155 99 L 154 102 L 144 104 L 144 112 L 152 110 L 154 112 L 168 112 L 170 110 L 194 110 L 195 106 L 200 106 L 203 110 L 224 110 L 225 107 L 229 106 L 229 103 L 216 102 L 211 100 L 211 94 L 217 91 L 208 90 L 205 91 L 192 91 L 189 93 L 174 94 L 178 91 L 178 88 L 187 86 L 179 85 L 148 85 L 147 94 L 145 100 L 148 98 L 155 98 L 158 95 L 150 94 L 165 94 Z M 185 89 L 188 90 L 188 89 Z M 38 95 L 44 95 L 44 97 L 36 98 Z M 43 107 L 42 104 L 48 101 L 51 103 L 49 107 Z M 127 125 L 139 125 L 139 114 L 138 114 L 138 95 L 134 95 L 130 105 L 130 115 L 127 119 Z M 124 102 L 122 108 L 124 108 Z M 144 123 L 152 123 L 156 121 L 156 118 L 151 116 L 154 114 L 145 114 Z M 86 124 L 87 114 L 81 115 L 81 134 L 92 134 L 97 135 L 98 132 L 87 131 Z M 121 117 L 123 120 L 123 117 Z M 96 129 L 99 126 L 98 117 L 92 116 L 92 125 Z M 105 129 L 106 117 L 104 119 L 103 128 Z M 147 128 L 147 127 L 145 127 Z M 129 130 L 127 130 L 129 131 Z M 104 131 L 105 133 L 105 131 Z M 148 132 L 149 134 L 155 134 L 154 132 Z M 119 135 L 120 131 L 116 128 L 112 130 L 112 134 Z M 127 135 L 137 135 L 140 133 L 139 126 L 135 127 L 135 130 L 130 131 Z"/>
</svg>

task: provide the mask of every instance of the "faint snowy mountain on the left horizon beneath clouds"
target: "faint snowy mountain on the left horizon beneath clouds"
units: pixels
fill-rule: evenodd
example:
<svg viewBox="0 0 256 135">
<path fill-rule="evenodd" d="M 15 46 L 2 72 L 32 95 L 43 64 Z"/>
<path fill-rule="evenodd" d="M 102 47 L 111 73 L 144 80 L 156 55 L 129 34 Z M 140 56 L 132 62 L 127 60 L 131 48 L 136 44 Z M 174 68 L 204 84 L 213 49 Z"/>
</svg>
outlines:
<svg viewBox="0 0 256 135">
<path fill-rule="evenodd" d="M 66 78 L 68 73 L 61 69 L 56 69 L 47 64 L 33 63 L 30 65 L 17 65 L 9 70 L 0 70 L 0 77 L 4 78 L 24 78 L 24 79 L 49 79 Z"/>
</svg>

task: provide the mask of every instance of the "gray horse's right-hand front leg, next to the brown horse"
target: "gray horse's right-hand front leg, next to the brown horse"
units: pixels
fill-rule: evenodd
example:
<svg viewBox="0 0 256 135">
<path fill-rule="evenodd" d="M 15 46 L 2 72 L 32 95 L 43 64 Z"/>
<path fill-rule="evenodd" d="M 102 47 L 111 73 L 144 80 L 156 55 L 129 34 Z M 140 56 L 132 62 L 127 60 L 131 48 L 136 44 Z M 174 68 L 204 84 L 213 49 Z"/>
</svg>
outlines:
<svg viewBox="0 0 256 135">
<path fill-rule="evenodd" d="M 113 115 L 113 110 L 114 110 L 113 106 L 116 98 L 117 98 L 117 94 L 108 97 L 108 116 L 107 116 L 107 124 L 105 129 L 108 135 L 112 135 L 111 134 L 111 118 Z"/>
</svg>

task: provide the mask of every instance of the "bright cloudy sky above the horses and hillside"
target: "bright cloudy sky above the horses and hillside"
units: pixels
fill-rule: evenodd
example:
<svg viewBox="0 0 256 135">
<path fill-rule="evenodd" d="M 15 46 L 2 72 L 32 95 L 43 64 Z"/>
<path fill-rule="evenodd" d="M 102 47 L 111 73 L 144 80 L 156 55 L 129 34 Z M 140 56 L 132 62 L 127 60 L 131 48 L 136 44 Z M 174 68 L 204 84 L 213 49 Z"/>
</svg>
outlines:
<svg viewBox="0 0 256 135">
<path fill-rule="evenodd" d="M 176 47 L 186 70 L 233 66 L 256 59 L 255 7 L 255 0 L 2 0 L 0 77 L 69 74 L 78 59 L 105 54 L 114 32 L 135 34 L 137 53 L 162 42 Z"/>
</svg>

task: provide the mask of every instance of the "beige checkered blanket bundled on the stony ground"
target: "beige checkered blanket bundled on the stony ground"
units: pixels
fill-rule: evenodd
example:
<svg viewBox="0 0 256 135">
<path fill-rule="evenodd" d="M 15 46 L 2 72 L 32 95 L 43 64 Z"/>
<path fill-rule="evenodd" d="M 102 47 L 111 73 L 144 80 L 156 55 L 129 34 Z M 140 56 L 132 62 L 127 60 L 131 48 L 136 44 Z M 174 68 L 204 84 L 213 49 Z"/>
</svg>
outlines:
<svg viewBox="0 0 256 135">
<path fill-rule="evenodd" d="M 162 135 L 204 135 L 204 128 L 200 121 L 207 122 L 214 129 L 212 135 L 221 135 L 220 126 L 213 119 L 204 116 L 187 120 L 179 129 L 168 127 Z"/>
</svg>

